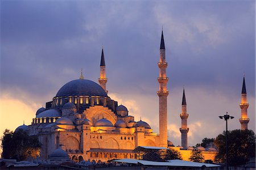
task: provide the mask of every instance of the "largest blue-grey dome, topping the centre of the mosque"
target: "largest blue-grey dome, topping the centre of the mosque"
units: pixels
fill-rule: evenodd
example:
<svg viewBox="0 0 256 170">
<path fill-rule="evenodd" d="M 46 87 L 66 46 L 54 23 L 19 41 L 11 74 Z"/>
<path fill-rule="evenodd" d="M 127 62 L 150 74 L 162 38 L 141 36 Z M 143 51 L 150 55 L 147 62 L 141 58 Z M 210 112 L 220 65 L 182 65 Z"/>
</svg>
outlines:
<svg viewBox="0 0 256 170">
<path fill-rule="evenodd" d="M 60 96 L 104 96 L 107 97 L 105 90 L 97 83 L 86 80 L 77 79 L 68 82 L 57 92 L 56 97 Z"/>
</svg>

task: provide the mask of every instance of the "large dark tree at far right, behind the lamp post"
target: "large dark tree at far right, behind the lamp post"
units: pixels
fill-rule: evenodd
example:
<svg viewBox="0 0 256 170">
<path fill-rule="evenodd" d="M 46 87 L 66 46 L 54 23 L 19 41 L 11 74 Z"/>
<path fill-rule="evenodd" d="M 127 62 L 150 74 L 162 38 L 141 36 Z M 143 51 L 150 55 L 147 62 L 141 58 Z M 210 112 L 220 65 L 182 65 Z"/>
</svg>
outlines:
<svg viewBox="0 0 256 170">
<path fill-rule="evenodd" d="M 215 161 L 226 162 L 226 132 L 219 134 L 214 141 L 218 147 Z M 255 157 L 255 134 L 252 130 L 228 131 L 228 154 L 229 165 L 242 165 Z"/>
</svg>

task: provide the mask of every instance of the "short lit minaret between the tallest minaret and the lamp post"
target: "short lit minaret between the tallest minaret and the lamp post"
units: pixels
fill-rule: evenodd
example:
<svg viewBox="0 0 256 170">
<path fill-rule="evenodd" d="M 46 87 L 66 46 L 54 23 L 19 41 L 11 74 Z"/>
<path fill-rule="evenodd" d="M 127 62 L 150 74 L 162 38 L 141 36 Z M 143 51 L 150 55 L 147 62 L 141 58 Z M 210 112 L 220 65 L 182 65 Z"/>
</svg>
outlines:
<svg viewBox="0 0 256 170">
<path fill-rule="evenodd" d="M 188 148 L 188 130 L 189 130 L 189 128 L 187 127 L 188 114 L 187 114 L 187 103 L 186 103 L 184 88 L 183 88 L 183 97 L 182 97 L 182 104 L 181 105 L 182 105 L 182 112 L 180 114 L 180 118 L 181 118 L 181 128 L 180 128 L 181 146 L 184 149 L 187 149 Z"/>
</svg>

